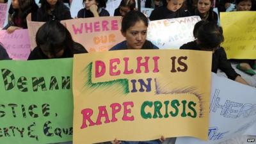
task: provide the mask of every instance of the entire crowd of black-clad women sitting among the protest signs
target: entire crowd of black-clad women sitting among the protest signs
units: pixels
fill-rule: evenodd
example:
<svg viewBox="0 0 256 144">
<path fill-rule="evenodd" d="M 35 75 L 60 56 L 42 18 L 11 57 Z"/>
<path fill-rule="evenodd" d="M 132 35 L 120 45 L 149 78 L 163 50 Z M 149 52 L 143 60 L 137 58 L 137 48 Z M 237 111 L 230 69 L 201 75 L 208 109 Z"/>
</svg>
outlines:
<svg viewBox="0 0 256 144">
<path fill-rule="evenodd" d="M 0 0 L 0 2 L 6 3 L 6 0 Z M 83 0 L 81 4 L 84 8 L 77 13 L 77 19 L 109 16 L 109 12 L 105 9 L 106 0 Z M 218 15 L 213 8 L 225 12 L 232 4 L 236 5 L 232 11 L 255 10 L 255 0 L 146 0 L 145 7 L 154 8 L 149 20 L 200 16 L 202 21 L 195 25 L 193 31 L 195 41 L 182 45 L 180 49 L 212 51 L 212 72 L 216 73 L 220 69 L 229 79 L 248 84 L 231 67 L 225 49 L 220 46 L 225 38 L 223 29 L 217 24 Z M 36 33 L 37 46 L 31 51 L 28 60 L 72 58 L 74 54 L 87 52 L 83 45 L 74 42 L 67 28 L 60 23 L 60 20 L 72 19 L 69 8 L 61 0 L 41 0 L 40 7 L 35 0 L 12 0 L 8 11 L 8 24 L 4 26 L 4 29 L 8 33 L 13 33 L 15 29 L 28 28 L 26 17 L 29 13 L 31 13 L 31 20 L 45 22 L 45 24 Z M 159 49 L 146 39 L 148 18 L 136 10 L 135 0 L 122 0 L 114 15 L 123 17 L 121 33 L 125 40 L 109 51 Z M 0 44 L 0 60 L 10 60 L 2 44 Z M 243 70 L 246 74 L 255 75 L 255 60 L 238 61 L 238 69 Z M 164 141 L 163 137 L 160 140 L 145 143 L 161 143 L 161 141 Z M 134 141 L 123 142 L 134 143 Z M 113 143 L 118 144 L 120 141 L 115 140 Z"/>
</svg>

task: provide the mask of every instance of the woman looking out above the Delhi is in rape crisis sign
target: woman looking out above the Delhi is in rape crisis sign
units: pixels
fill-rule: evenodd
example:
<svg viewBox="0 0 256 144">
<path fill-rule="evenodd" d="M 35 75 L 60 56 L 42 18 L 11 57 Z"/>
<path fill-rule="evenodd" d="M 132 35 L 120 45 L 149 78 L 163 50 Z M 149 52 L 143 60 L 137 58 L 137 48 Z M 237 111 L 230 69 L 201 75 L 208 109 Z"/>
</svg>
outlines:
<svg viewBox="0 0 256 144">
<path fill-rule="evenodd" d="M 109 49 L 124 50 L 124 49 L 159 49 L 147 38 L 148 19 L 145 15 L 138 11 L 128 12 L 122 19 L 121 33 L 126 40 L 116 44 Z"/>
</svg>

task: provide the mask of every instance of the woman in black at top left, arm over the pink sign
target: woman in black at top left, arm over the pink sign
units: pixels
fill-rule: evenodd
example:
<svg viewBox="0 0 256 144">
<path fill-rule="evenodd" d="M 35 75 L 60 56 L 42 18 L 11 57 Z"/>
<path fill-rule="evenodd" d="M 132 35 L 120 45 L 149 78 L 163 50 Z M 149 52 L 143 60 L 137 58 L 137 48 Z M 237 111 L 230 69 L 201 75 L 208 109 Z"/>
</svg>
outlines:
<svg viewBox="0 0 256 144">
<path fill-rule="evenodd" d="M 31 20 L 35 20 L 37 9 L 35 0 L 12 0 L 8 24 L 3 29 L 6 29 L 8 33 L 13 33 L 15 29 L 28 28 L 26 17 L 31 13 Z"/>
</svg>

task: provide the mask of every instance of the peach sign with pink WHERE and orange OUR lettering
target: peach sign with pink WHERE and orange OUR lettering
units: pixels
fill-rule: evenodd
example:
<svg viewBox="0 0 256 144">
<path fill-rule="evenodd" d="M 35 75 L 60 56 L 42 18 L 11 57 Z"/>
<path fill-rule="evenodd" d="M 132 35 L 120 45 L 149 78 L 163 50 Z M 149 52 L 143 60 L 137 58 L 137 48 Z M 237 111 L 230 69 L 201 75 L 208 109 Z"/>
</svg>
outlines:
<svg viewBox="0 0 256 144">
<path fill-rule="evenodd" d="M 93 17 L 65 20 L 74 41 L 82 44 L 88 52 L 108 51 L 122 42 L 121 17 Z"/>
</svg>

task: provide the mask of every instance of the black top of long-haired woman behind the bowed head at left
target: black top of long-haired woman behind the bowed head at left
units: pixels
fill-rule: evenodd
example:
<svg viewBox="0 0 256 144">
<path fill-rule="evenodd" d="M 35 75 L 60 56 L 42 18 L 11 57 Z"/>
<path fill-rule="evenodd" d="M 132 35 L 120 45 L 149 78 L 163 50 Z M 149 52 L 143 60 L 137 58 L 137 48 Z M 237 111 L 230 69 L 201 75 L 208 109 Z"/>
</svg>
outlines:
<svg viewBox="0 0 256 144">
<path fill-rule="evenodd" d="M 56 10 L 52 10 L 51 13 L 44 13 L 42 8 L 39 8 L 36 13 L 36 21 L 37 22 L 47 22 L 49 20 L 67 20 L 72 19 L 71 14 L 67 6 L 64 4 L 60 8 L 61 12 L 56 12 Z"/>
</svg>

